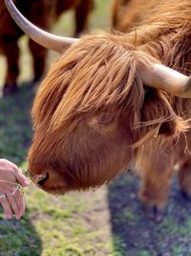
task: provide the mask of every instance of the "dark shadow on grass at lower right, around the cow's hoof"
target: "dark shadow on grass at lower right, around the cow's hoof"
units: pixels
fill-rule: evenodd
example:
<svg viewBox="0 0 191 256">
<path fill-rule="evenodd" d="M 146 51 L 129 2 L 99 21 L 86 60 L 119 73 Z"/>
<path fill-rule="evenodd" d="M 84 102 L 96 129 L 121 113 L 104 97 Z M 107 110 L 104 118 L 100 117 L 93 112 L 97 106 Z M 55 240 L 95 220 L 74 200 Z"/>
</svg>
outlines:
<svg viewBox="0 0 191 256">
<path fill-rule="evenodd" d="M 120 175 L 108 186 L 113 240 L 119 255 L 191 255 L 191 202 L 173 180 L 167 213 L 160 223 L 149 220 L 138 200 L 138 177 Z"/>
</svg>

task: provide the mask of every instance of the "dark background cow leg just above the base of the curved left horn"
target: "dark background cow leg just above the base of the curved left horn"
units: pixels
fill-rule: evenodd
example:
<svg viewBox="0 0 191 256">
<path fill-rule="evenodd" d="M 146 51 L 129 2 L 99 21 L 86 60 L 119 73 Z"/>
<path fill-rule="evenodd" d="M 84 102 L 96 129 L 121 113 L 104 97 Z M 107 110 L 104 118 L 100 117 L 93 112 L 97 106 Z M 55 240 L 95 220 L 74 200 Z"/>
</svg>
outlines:
<svg viewBox="0 0 191 256">
<path fill-rule="evenodd" d="M 93 0 L 79 1 L 79 4 L 75 8 L 75 37 L 79 37 L 88 30 L 89 13 L 93 8 Z"/>
</svg>

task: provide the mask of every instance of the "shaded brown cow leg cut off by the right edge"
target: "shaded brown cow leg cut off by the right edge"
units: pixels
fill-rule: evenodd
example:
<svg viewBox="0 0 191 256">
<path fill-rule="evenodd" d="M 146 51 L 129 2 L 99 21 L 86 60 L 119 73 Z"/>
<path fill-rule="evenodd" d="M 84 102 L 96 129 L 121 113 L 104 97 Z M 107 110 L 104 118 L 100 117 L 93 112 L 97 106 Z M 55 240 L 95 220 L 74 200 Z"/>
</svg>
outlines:
<svg viewBox="0 0 191 256">
<path fill-rule="evenodd" d="M 191 201 L 191 158 L 180 166 L 178 177 L 183 197 Z"/>
</svg>

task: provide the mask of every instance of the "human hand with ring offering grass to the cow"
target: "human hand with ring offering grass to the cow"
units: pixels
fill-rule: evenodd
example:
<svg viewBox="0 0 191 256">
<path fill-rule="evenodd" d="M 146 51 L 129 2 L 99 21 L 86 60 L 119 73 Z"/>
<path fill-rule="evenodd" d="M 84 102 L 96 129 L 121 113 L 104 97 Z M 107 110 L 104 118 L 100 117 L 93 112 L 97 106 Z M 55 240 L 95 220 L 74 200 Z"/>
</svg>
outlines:
<svg viewBox="0 0 191 256">
<path fill-rule="evenodd" d="M 0 203 L 8 219 L 11 219 L 14 213 L 15 218 L 19 220 L 25 213 L 25 200 L 18 184 L 27 187 L 30 182 L 15 164 L 0 159 Z"/>
</svg>

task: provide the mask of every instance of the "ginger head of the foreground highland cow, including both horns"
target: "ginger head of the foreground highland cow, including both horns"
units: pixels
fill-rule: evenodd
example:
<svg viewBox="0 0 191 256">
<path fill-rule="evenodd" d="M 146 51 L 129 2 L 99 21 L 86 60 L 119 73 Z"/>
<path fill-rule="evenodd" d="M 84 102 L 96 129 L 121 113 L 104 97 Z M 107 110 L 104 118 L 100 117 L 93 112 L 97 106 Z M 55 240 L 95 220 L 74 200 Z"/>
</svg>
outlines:
<svg viewBox="0 0 191 256">
<path fill-rule="evenodd" d="M 44 190 L 59 194 L 98 187 L 125 170 L 142 143 L 156 134 L 156 141 L 172 138 L 186 128 L 159 89 L 190 97 L 189 78 L 162 66 L 123 35 L 57 38 L 36 29 L 11 0 L 6 2 L 35 41 L 59 52 L 74 42 L 53 63 L 32 108 L 29 170 Z"/>
</svg>

